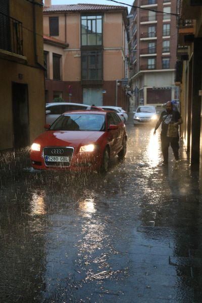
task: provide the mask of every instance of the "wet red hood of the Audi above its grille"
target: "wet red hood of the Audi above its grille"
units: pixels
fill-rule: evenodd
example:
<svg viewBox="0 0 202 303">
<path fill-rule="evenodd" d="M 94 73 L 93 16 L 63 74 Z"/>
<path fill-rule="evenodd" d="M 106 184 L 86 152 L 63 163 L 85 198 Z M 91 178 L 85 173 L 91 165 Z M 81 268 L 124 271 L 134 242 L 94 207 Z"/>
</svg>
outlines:
<svg viewBox="0 0 202 303">
<path fill-rule="evenodd" d="M 72 146 L 96 142 L 104 135 L 103 131 L 55 131 L 47 130 L 38 136 L 34 142 L 41 146 Z"/>
</svg>

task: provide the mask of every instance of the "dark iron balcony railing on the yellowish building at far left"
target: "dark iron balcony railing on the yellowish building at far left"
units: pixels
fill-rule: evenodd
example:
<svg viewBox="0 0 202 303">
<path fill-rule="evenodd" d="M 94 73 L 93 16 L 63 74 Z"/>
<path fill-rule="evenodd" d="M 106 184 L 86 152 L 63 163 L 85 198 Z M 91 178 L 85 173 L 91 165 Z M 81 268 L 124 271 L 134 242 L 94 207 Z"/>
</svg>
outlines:
<svg viewBox="0 0 202 303">
<path fill-rule="evenodd" d="M 0 48 L 23 56 L 22 22 L 0 13 Z"/>
</svg>

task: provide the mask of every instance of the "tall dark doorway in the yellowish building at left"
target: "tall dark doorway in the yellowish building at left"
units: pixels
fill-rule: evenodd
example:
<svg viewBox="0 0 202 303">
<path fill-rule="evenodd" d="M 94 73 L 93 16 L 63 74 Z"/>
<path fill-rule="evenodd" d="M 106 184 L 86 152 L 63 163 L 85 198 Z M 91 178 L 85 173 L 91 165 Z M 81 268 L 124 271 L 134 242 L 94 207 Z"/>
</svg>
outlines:
<svg viewBox="0 0 202 303">
<path fill-rule="evenodd" d="M 14 148 L 20 148 L 30 143 L 27 84 L 13 83 L 12 95 Z"/>
</svg>

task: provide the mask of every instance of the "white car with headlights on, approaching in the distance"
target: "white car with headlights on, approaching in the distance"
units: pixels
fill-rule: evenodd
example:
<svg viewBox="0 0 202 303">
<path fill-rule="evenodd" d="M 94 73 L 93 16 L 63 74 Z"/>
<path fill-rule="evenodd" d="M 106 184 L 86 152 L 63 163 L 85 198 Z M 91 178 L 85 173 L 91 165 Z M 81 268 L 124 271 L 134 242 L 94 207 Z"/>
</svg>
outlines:
<svg viewBox="0 0 202 303">
<path fill-rule="evenodd" d="M 138 106 L 134 113 L 133 122 L 135 124 L 157 122 L 158 115 L 155 106 L 142 105 Z"/>
</svg>

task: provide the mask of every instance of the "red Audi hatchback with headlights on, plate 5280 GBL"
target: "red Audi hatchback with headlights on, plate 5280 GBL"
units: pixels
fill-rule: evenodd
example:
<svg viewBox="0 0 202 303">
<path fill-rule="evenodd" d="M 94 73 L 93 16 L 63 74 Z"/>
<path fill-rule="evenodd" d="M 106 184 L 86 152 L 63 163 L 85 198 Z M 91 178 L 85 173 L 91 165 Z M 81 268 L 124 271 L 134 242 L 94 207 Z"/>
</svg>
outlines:
<svg viewBox="0 0 202 303">
<path fill-rule="evenodd" d="M 110 158 L 125 157 L 125 125 L 114 112 L 67 112 L 45 128 L 31 145 L 35 169 L 107 172 Z"/>
</svg>

